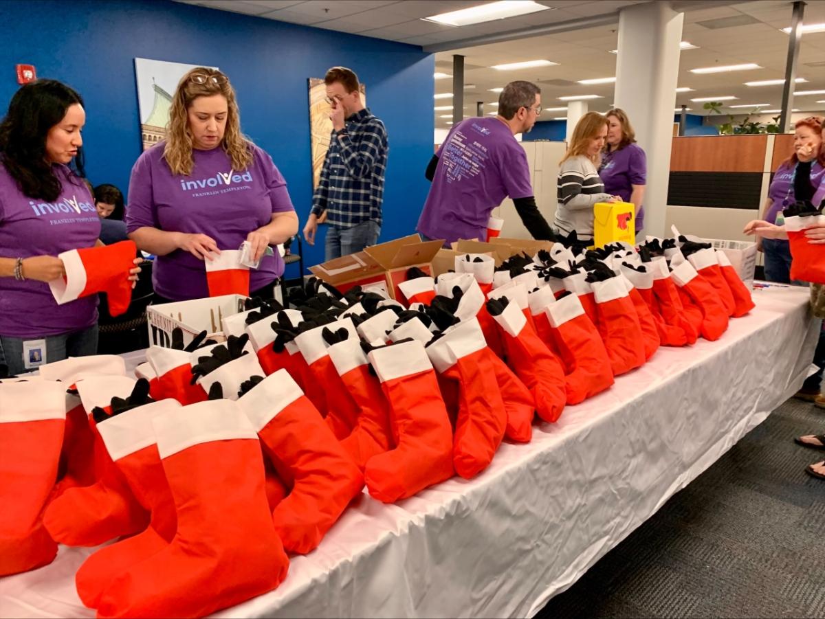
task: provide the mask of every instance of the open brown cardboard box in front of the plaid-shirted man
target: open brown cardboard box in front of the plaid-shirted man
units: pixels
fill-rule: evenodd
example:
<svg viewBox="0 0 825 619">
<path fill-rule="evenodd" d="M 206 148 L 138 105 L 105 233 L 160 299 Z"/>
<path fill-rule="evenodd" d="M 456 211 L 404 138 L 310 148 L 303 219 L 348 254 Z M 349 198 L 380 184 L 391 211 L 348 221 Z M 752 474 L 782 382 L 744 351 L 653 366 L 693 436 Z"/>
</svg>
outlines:
<svg viewBox="0 0 825 619">
<path fill-rule="evenodd" d="M 342 293 L 354 286 L 365 288 L 383 282 L 389 298 L 403 301 L 398 284 L 407 279 L 407 270 L 417 266 L 431 273 L 431 261 L 443 245 L 443 241 L 422 242 L 417 234 L 411 234 L 311 266 L 309 270 Z"/>
</svg>

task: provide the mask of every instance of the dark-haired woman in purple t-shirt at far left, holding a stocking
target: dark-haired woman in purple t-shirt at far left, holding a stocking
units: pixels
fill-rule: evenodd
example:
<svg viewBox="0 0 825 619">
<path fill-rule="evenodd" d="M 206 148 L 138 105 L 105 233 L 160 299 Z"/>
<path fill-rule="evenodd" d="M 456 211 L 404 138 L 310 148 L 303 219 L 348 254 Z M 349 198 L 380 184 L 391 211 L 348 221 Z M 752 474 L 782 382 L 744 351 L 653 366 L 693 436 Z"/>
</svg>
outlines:
<svg viewBox="0 0 825 619">
<path fill-rule="evenodd" d="M 97 353 L 97 295 L 58 305 L 48 284 L 65 275 L 61 252 L 101 245 L 85 123 L 80 95 L 47 79 L 16 91 L 0 123 L 0 363 L 12 374 Z"/>
</svg>

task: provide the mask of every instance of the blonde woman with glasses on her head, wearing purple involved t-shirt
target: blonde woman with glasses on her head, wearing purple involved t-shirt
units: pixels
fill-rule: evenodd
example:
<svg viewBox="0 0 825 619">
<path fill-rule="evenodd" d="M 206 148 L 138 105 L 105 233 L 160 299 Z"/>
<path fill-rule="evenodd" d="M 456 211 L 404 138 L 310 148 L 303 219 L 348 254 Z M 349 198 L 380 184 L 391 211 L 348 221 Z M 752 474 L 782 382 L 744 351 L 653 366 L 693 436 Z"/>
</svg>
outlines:
<svg viewBox="0 0 825 619">
<path fill-rule="evenodd" d="M 229 78 L 194 68 L 181 78 L 167 138 L 132 168 L 126 225 L 138 247 L 158 256 L 156 301 L 209 296 L 204 260 L 248 241 L 254 259 L 298 231 L 298 217 L 272 158 L 241 133 Z M 250 274 L 254 296 L 271 298 L 284 262 L 275 252 Z"/>
</svg>

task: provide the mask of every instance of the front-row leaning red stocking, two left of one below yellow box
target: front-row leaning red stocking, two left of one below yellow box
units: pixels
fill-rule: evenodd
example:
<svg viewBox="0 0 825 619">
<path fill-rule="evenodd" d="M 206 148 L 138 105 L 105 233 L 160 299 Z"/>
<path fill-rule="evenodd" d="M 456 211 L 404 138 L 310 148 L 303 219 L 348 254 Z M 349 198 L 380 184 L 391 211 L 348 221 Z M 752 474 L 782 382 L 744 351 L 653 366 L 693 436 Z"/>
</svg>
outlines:
<svg viewBox="0 0 825 619">
<path fill-rule="evenodd" d="M 513 302 L 502 305 L 494 299 L 487 303 L 488 311 L 502 328 L 507 361 L 533 394 L 541 419 L 554 423 L 567 400 L 562 365 L 536 335 L 524 312 Z"/>
</svg>

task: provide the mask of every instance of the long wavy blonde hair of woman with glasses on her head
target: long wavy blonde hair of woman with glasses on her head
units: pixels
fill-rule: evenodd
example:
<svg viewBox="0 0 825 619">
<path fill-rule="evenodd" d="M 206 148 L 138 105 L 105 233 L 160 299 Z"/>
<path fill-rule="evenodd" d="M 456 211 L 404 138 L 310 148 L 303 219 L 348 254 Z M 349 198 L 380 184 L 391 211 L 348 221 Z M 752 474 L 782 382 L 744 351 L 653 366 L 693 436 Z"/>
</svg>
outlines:
<svg viewBox="0 0 825 619">
<path fill-rule="evenodd" d="M 200 73 L 206 77 L 205 83 L 193 82 L 191 77 Z M 212 81 L 217 77 L 218 83 Z M 214 68 L 196 67 L 186 72 L 177 83 L 172 107 L 169 109 L 169 123 L 166 127 L 166 145 L 163 158 L 172 174 L 189 176 L 192 173 L 192 134 L 189 130 L 188 110 L 199 96 L 223 95 L 226 97 L 227 115 L 224 139 L 220 147 L 229 156 L 233 171 L 245 170 L 252 163 L 252 140 L 241 133 L 241 118 L 238 101 L 229 78 Z"/>
</svg>

